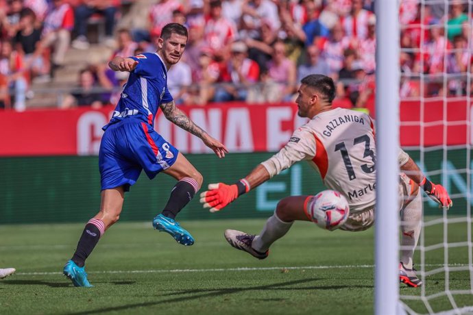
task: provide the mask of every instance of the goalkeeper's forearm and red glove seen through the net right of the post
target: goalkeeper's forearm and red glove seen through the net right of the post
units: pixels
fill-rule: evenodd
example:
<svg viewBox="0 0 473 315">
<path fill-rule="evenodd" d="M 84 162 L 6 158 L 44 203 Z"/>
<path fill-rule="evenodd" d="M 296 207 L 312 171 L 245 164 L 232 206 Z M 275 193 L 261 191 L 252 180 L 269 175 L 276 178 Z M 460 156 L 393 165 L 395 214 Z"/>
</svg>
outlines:
<svg viewBox="0 0 473 315">
<path fill-rule="evenodd" d="M 452 199 L 448 196 L 448 192 L 444 186 L 433 184 L 432 181 L 429 181 L 411 157 L 409 157 L 409 160 L 400 166 L 400 168 L 410 179 L 424 189 L 428 197 L 439 203 L 439 207 L 446 207 L 447 210 L 452 207 Z"/>
</svg>

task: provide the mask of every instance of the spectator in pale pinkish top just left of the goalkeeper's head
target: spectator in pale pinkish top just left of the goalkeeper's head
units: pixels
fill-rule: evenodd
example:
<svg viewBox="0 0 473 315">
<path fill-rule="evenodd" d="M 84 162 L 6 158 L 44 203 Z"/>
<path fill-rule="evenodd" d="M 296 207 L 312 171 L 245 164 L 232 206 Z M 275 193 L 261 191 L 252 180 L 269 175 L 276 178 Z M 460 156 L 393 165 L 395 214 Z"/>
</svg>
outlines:
<svg viewBox="0 0 473 315">
<path fill-rule="evenodd" d="M 273 59 L 268 62 L 269 78 L 280 85 L 281 95 L 278 101 L 289 101 L 295 91 L 295 63 L 286 57 L 284 42 L 274 44 Z"/>
</svg>

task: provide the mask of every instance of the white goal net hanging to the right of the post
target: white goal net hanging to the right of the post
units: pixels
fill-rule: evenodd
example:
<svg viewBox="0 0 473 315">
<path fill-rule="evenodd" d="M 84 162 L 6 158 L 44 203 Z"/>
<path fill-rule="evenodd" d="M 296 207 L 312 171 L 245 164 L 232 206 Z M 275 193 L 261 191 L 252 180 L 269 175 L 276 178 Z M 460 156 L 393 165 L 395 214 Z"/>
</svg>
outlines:
<svg viewBox="0 0 473 315">
<path fill-rule="evenodd" d="M 401 144 L 453 201 L 447 212 L 424 194 L 423 286 L 400 288 L 408 314 L 473 314 L 472 5 L 400 0 Z"/>
</svg>

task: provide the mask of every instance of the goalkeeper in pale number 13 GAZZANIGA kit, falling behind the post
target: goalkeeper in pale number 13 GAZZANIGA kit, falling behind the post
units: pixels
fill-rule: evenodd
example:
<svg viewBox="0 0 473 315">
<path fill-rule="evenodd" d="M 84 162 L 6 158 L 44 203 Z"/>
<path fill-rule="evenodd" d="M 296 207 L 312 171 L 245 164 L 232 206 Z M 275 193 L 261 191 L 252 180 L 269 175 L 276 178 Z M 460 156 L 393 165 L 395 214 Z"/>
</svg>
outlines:
<svg viewBox="0 0 473 315">
<path fill-rule="evenodd" d="M 210 184 L 200 201 L 210 212 L 217 212 L 241 194 L 263 184 L 295 162 L 308 161 L 324 181 L 324 185 L 341 192 L 350 205 L 350 216 L 339 227 L 345 231 L 363 231 L 374 223 L 376 198 L 376 145 L 374 122 L 367 114 L 332 108 L 335 86 L 330 77 L 308 75 L 298 89 L 298 115 L 310 121 L 292 134 L 289 142 L 273 157 L 258 164 L 236 184 Z M 413 253 L 420 236 L 422 197 L 419 187 L 441 207 L 452 201 L 445 188 L 433 184 L 422 174 L 407 153 L 400 149 L 400 216 L 402 250 L 400 281 L 417 287 L 422 281 L 413 269 Z M 259 235 L 249 235 L 228 229 L 225 237 L 237 249 L 247 251 L 258 259 L 268 255 L 273 242 L 282 238 L 294 220 L 311 221 L 307 209 L 314 196 L 291 196 L 279 201 L 274 214 L 268 218 Z"/>
</svg>

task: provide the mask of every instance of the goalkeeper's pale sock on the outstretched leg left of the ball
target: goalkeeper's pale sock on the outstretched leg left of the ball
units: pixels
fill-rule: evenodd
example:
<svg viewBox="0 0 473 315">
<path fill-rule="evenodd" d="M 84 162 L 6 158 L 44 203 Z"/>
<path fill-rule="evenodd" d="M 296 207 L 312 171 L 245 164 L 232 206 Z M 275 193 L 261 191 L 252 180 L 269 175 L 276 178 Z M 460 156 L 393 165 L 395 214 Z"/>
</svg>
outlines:
<svg viewBox="0 0 473 315">
<path fill-rule="evenodd" d="M 284 222 L 278 218 L 276 212 L 270 216 L 263 227 L 263 231 L 255 236 L 252 242 L 252 248 L 261 253 L 265 253 L 271 244 L 273 244 L 279 238 L 282 238 L 287 231 L 291 228 L 293 222 Z"/>
</svg>

